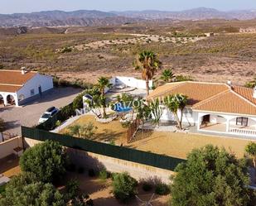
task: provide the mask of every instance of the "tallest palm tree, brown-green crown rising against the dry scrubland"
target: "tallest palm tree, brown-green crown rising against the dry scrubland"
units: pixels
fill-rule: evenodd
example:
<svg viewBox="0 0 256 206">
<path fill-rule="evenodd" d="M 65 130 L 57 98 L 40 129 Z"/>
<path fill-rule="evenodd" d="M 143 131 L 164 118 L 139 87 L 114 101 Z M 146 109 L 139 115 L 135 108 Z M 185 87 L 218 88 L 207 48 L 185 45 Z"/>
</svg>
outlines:
<svg viewBox="0 0 256 206">
<path fill-rule="evenodd" d="M 161 65 L 162 63 L 158 60 L 157 55 L 150 50 L 143 50 L 135 61 L 135 69 L 141 69 L 142 79 L 146 80 L 147 95 L 149 94 L 149 80 L 152 80 Z"/>
</svg>

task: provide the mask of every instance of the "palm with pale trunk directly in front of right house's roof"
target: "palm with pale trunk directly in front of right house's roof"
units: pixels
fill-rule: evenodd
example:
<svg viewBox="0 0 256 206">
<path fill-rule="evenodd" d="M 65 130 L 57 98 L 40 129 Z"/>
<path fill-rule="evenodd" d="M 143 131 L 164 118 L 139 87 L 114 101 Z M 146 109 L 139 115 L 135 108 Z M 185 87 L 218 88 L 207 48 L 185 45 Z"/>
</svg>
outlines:
<svg viewBox="0 0 256 206">
<path fill-rule="evenodd" d="M 174 114 L 180 129 L 182 129 L 183 110 L 186 108 L 187 101 L 187 97 L 181 93 L 171 94 L 170 96 L 164 98 L 164 104 L 171 111 L 171 113 Z M 181 112 L 180 117 L 178 115 L 179 111 Z"/>
</svg>

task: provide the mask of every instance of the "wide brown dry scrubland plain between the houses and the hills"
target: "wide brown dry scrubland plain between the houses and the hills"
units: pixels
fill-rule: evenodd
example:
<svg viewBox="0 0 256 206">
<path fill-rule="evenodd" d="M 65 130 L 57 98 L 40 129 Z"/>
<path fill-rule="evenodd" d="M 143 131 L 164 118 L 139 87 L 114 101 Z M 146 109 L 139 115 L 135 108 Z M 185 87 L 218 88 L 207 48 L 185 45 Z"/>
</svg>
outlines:
<svg viewBox="0 0 256 206">
<path fill-rule="evenodd" d="M 176 74 L 207 81 L 232 79 L 244 84 L 256 75 L 256 34 L 238 31 L 240 27 L 254 25 L 255 21 L 211 20 L 71 27 L 58 32 L 34 29 L 20 36 L 1 36 L 0 31 L 0 67 L 18 69 L 26 65 L 65 79 L 89 82 L 99 75 L 139 77 L 132 65 L 134 55 L 150 49 L 160 56 L 165 68 L 173 67 Z M 172 40 L 173 31 L 181 35 L 175 41 L 168 41 Z M 221 33 L 195 41 L 195 36 L 209 31 Z M 147 36 L 140 40 L 142 37 L 133 34 Z"/>
</svg>

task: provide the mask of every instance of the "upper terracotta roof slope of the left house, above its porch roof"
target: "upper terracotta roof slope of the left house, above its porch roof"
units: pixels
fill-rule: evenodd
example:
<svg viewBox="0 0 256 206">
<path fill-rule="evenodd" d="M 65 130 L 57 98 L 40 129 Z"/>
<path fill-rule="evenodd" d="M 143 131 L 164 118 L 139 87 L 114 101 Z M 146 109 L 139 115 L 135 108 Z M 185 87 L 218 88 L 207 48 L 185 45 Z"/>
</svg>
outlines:
<svg viewBox="0 0 256 206">
<path fill-rule="evenodd" d="M 33 71 L 22 74 L 20 70 L 0 70 L 0 84 L 22 85 L 36 74 Z"/>
</svg>

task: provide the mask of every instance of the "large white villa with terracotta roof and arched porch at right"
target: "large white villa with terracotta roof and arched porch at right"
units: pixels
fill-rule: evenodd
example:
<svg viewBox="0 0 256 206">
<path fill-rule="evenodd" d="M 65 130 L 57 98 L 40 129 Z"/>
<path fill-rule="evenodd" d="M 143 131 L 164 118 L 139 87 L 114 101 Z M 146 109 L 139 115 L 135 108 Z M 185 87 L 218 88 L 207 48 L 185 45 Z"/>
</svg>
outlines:
<svg viewBox="0 0 256 206">
<path fill-rule="evenodd" d="M 256 88 L 189 81 L 158 87 L 147 100 L 159 98 L 162 102 L 174 93 L 188 97 L 182 122 L 196 126 L 198 132 L 256 137 Z M 162 121 L 174 121 L 172 113 L 163 104 L 162 107 Z"/>
</svg>

